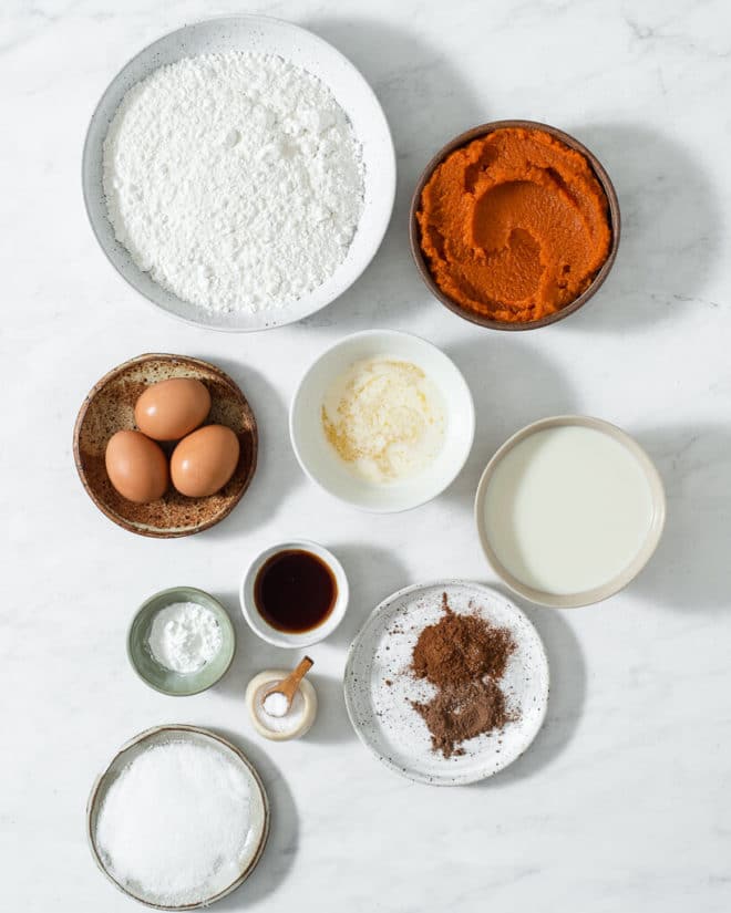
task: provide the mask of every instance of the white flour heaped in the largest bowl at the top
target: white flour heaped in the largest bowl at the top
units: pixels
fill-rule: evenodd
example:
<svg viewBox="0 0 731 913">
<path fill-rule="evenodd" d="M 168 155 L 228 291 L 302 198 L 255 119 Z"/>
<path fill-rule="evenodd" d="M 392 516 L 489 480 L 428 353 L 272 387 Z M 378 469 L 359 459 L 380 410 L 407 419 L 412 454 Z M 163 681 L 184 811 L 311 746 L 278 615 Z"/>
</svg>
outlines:
<svg viewBox="0 0 731 913">
<path fill-rule="evenodd" d="M 361 147 L 330 90 L 257 53 L 188 58 L 134 85 L 103 184 L 140 269 L 209 311 L 278 308 L 322 284 L 363 206 Z"/>
</svg>

